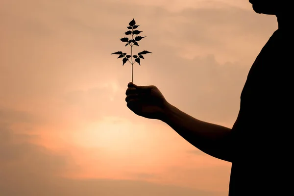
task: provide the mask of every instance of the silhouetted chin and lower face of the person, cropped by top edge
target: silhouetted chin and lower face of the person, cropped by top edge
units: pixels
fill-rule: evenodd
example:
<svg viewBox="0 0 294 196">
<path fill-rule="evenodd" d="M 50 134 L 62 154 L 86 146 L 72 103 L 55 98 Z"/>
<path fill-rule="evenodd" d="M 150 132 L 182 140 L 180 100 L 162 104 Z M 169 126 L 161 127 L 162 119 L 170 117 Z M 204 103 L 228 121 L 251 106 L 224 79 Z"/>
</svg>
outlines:
<svg viewBox="0 0 294 196">
<path fill-rule="evenodd" d="M 256 13 L 269 15 L 283 14 L 290 6 L 289 1 L 292 0 L 249 0 Z"/>
</svg>

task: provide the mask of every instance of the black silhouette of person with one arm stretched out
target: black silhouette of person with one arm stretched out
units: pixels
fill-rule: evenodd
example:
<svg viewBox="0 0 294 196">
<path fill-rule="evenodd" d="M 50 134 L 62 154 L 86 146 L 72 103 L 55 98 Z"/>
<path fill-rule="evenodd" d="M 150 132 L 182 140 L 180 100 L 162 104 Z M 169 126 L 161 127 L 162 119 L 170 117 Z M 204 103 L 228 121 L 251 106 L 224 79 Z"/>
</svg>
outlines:
<svg viewBox="0 0 294 196">
<path fill-rule="evenodd" d="M 232 129 L 180 111 L 155 86 L 130 82 L 125 100 L 137 115 L 159 119 L 203 152 L 232 162 L 229 196 L 293 195 L 292 1 L 249 2 L 257 13 L 276 15 L 278 30 L 248 73 Z"/>
</svg>

